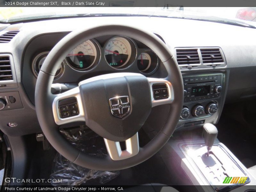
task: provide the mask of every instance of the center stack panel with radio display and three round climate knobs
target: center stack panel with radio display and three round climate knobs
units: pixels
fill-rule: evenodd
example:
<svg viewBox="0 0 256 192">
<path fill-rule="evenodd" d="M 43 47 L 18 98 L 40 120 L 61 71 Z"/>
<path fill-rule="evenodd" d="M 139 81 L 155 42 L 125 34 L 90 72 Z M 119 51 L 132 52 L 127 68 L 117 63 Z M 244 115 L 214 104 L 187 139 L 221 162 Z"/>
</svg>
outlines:
<svg viewBox="0 0 256 192">
<path fill-rule="evenodd" d="M 184 104 L 177 130 L 215 123 L 224 103 L 225 72 L 185 73 Z"/>
</svg>

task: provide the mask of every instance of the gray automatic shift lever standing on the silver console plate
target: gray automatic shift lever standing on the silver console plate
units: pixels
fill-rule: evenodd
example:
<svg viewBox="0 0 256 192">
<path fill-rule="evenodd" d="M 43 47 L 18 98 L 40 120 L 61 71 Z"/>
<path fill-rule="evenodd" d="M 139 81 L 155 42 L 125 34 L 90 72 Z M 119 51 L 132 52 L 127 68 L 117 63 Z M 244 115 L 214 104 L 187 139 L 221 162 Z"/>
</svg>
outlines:
<svg viewBox="0 0 256 192">
<path fill-rule="evenodd" d="M 209 153 L 213 146 L 213 143 L 214 143 L 215 139 L 217 138 L 218 130 L 211 123 L 204 124 L 203 128 L 204 128 L 204 131 L 203 131 L 204 132 L 204 143 L 205 143 L 205 146 L 207 147 L 207 156 L 209 156 Z"/>
</svg>

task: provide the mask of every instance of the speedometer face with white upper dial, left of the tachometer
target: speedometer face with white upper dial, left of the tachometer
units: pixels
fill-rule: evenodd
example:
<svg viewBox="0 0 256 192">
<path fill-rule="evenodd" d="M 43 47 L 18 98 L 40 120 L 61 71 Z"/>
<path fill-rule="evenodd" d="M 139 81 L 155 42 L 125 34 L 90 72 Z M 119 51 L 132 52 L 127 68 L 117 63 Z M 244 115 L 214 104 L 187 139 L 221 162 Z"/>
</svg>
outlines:
<svg viewBox="0 0 256 192">
<path fill-rule="evenodd" d="M 78 70 L 92 67 L 97 57 L 96 46 L 91 40 L 85 41 L 73 49 L 66 57 L 69 65 Z"/>
</svg>

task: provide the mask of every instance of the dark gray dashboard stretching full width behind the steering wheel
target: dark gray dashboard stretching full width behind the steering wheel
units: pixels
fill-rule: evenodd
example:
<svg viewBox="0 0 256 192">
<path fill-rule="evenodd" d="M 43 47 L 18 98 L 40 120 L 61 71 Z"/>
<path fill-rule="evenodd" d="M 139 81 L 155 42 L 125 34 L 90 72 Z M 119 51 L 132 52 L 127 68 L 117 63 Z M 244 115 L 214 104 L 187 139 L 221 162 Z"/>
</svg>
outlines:
<svg viewBox="0 0 256 192">
<path fill-rule="evenodd" d="M 217 123 L 225 102 L 256 95 L 253 28 L 134 16 L 1 24 L 0 69 L 4 68 L 5 72 L 0 74 L 0 99 L 4 99 L 5 106 L 0 110 L 4 117 L 0 128 L 5 134 L 17 136 L 41 132 L 35 114 L 35 85 L 38 72 L 54 45 L 70 31 L 79 28 L 77 26 L 81 23 L 84 23 L 83 27 L 90 27 L 94 23 L 113 24 L 113 19 L 117 23 L 155 33 L 174 53 L 183 76 L 185 95 L 177 131 L 203 123 Z M 13 38 L 3 43 L 1 36 L 6 32 Z M 56 94 L 77 86 L 84 79 L 108 73 L 133 72 L 156 78 L 167 76 L 164 64 L 149 47 L 129 36 L 116 34 L 81 42 L 59 65 L 52 86 L 52 92 Z M 168 108 L 161 107 L 152 110 L 148 124 L 154 124 L 154 118 L 168 115 Z"/>
</svg>

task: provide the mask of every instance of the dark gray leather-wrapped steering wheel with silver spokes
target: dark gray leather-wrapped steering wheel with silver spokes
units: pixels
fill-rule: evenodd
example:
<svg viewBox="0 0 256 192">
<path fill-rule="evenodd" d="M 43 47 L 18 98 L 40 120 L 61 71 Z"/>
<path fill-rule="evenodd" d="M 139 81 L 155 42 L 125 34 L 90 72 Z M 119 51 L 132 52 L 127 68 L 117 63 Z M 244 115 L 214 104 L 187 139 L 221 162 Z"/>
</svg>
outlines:
<svg viewBox="0 0 256 192">
<path fill-rule="evenodd" d="M 77 44 L 113 34 L 128 36 L 147 45 L 163 62 L 168 76 L 160 79 L 139 73 L 112 73 L 81 81 L 78 87 L 58 95 L 51 93 L 59 64 Z M 154 92 L 159 88 L 167 90 L 167 95 L 157 100 Z M 62 118 L 65 113 L 61 114 L 61 105 L 70 103 L 76 108 L 75 115 Z M 100 25 L 75 30 L 53 47 L 37 78 L 35 105 L 45 137 L 62 156 L 89 169 L 120 170 L 147 160 L 172 136 L 183 105 L 182 77 L 172 53 L 155 34 L 125 25 Z M 140 147 L 138 131 L 151 108 L 158 105 L 170 105 L 168 118 L 155 138 Z M 61 135 L 60 125 L 81 121 L 104 138 L 108 156 L 99 158 L 85 154 Z M 121 141 L 125 141 L 125 150 L 120 147 Z"/>
</svg>

